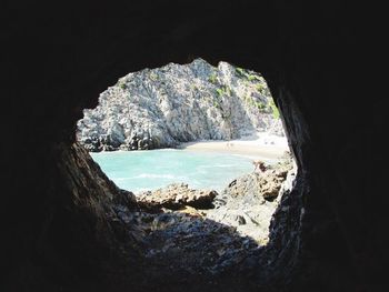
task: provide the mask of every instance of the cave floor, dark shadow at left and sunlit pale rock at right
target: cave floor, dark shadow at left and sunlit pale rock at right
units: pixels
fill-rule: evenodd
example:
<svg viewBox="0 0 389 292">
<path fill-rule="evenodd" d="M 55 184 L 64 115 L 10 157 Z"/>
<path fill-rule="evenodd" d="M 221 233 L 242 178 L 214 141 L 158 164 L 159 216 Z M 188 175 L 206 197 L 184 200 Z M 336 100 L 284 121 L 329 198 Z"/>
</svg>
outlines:
<svg viewBox="0 0 389 292">
<path fill-rule="evenodd" d="M 290 164 L 280 165 L 276 170 L 269 169 L 266 175 L 249 173 L 235 180 L 227 192 L 213 199 L 216 205 L 211 209 L 182 205 L 172 210 L 149 203 L 139 204 L 136 211 L 129 211 L 123 205 L 117 205 L 116 213 L 127 224 L 138 244 L 139 264 L 136 265 L 139 270 L 132 275 L 137 276 L 139 286 L 148 290 L 161 283 L 170 285 L 182 281 L 189 282 L 189 279 L 207 283 L 225 274 L 226 271 L 238 273 L 237 270 L 245 270 L 250 259 L 261 254 L 266 249 L 269 240 L 268 223 L 278 205 L 277 199 L 270 202 L 263 199 L 266 188 L 263 189 L 265 184 L 260 182 L 273 181 L 275 185 L 278 185 L 276 190 L 280 190 L 291 168 Z M 290 172 L 291 175 L 293 171 Z M 277 193 L 276 198 L 280 198 L 279 193 L 282 192 Z M 152 202 L 152 199 L 150 200 Z M 238 210 L 239 208 L 241 209 Z M 235 222 L 233 225 L 231 222 L 220 220 L 230 215 L 231 210 L 245 214 L 246 222 Z M 219 214 L 219 218 L 212 220 L 212 217 L 209 217 L 212 212 L 213 215 L 215 212 Z M 260 222 L 265 225 L 258 225 L 258 222 L 248 215 L 250 212 L 262 212 L 261 217 L 267 222 Z M 232 218 L 240 217 L 233 213 Z M 241 232 L 242 225 L 249 230 L 266 230 L 266 232 L 251 232 L 260 236 L 250 236 Z"/>
</svg>

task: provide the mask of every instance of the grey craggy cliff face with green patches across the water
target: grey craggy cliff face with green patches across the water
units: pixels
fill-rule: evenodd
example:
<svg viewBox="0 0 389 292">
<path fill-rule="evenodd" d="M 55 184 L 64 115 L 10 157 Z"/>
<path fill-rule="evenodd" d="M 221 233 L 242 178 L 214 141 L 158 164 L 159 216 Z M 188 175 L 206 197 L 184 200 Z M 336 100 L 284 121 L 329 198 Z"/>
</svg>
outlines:
<svg viewBox="0 0 389 292">
<path fill-rule="evenodd" d="M 283 135 L 265 79 L 227 62 L 169 63 L 119 79 L 84 110 L 78 140 L 89 151 L 174 147 L 267 131 Z"/>
</svg>

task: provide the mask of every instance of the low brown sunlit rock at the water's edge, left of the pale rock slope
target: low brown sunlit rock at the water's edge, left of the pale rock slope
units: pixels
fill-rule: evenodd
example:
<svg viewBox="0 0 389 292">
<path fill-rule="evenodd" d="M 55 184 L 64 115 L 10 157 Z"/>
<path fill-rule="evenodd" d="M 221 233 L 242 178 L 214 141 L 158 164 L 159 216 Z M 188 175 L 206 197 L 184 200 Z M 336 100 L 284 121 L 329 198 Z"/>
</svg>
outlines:
<svg viewBox="0 0 389 292">
<path fill-rule="evenodd" d="M 191 190 L 188 184 L 172 183 L 163 189 L 147 191 L 137 195 L 138 203 L 147 208 L 181 209 L 186 205 L 197 209 L 212 208 L 216 191 Z"/>
</svg>

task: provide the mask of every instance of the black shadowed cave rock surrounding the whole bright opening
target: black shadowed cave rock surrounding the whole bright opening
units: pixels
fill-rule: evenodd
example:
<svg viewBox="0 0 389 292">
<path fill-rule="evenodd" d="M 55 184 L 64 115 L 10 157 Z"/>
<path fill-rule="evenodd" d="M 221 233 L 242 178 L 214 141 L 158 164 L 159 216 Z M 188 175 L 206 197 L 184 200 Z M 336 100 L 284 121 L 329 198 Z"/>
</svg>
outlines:
<svg viewBox="0 0 389 292">
<path fill-rule="evenodd" d="M 119 193 L 96 191 L 107 178 L 73 149 L 76 124 L 128 72 L 201 57 L 263 74 L 299 171 L 266 246 L 218 275 L 163 268 L 163 280 L 149 285 L 382 291 L 387 89 L 375 66 L 387 56 L 386 11 L 338 0 L 6 2 L 1 290 L 142 291 L 147 269 L 132 244 L 141 233 L 112 213 Z"/>
</svg>

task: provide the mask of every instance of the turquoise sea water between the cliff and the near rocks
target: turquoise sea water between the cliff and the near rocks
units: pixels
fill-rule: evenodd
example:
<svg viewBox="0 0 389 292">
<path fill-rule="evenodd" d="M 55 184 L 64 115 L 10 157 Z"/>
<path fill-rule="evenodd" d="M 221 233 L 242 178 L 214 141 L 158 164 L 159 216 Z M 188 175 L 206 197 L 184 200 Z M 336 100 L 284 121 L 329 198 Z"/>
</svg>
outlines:
<svg viewBox="0 0 389 292">
<path fill-rule="evenodd" d="M 226 153 L 169 149 L 90 154 L 118 187 L 134 193 L 173 182 L 221 191 L 233 179 L 253 170 L 252 159 Z"/>
</svg>

